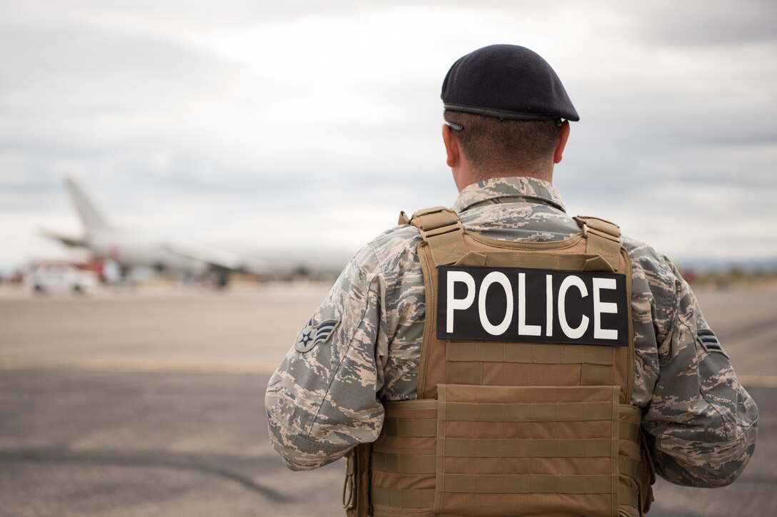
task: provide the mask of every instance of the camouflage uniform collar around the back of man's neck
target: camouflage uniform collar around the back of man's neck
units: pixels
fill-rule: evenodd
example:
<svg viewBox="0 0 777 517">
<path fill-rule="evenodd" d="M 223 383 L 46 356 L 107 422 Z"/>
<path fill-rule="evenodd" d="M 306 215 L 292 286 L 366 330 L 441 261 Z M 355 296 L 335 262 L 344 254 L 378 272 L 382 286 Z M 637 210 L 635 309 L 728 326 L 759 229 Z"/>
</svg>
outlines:
<svg viewBox="0 0 777 517">
<path fill-rule="evenodd" d="M 478 203 L 499 203 L 497 200 L 506 197 L 523 198 L 531 203 L 555 206 L 562 212 L 566 212 L 561 195 L 555 186 L 542 179 L 525 176 L 491 178 L 466 186 L 453 203 L 453 210 L 463 212 Z"/>
</svg>

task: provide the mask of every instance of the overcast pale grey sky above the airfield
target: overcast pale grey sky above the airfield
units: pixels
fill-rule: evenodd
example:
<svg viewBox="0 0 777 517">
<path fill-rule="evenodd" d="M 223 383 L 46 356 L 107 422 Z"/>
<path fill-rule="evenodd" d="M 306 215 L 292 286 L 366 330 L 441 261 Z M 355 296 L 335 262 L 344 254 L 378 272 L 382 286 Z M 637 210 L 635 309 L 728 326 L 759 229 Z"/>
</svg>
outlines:
<svg viewBox="0 0 777 517">
<path fill-rule="evenodd" d="M 541 54 L 580 113 L 555 183 L 673 259 L 777 257 L 777 3 L 0 0 L 0 269 L 119 224 L 351 251 L 451 205 L 440 86 Z"/>
</svg>

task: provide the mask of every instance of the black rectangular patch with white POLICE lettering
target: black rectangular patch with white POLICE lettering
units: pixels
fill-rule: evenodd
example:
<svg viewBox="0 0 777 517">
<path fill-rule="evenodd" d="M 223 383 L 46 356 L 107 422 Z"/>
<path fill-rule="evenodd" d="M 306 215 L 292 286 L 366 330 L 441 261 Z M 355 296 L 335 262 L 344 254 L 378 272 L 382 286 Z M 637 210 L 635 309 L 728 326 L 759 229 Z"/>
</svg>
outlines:
<svg viewBox="0 0 777 517">
<path fill-rule="evenodd" d="M 625 275 L 458 265 L 438 274 L 439 339 L 629 344 Z"/>
</svg>

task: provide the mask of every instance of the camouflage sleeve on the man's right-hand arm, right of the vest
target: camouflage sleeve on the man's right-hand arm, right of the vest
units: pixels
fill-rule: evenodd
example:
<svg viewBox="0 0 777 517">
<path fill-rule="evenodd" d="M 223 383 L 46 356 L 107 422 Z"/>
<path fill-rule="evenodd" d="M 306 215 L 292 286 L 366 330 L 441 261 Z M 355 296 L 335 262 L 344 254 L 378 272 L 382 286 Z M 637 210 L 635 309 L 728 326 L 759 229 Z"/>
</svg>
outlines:
<svg viewBox="0 0 777 517">
<path fill-rule="evenodd" d="M 758 408 L 704 320 L 688 283 L 665 259 L 672 289 L 656 290 L 659 374 L 643 426 L 657 473 L 672 483 L 720 487 L 755 448 Z M 664 312 L 662 304 L 667 306 Z"/>
</svg>

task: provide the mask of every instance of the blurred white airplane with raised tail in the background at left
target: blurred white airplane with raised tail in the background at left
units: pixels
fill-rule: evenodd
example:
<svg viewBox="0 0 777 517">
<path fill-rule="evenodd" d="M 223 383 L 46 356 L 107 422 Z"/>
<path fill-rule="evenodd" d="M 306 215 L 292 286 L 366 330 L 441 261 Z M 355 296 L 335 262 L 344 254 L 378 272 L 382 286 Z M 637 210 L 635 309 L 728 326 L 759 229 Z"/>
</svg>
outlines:
<svg viewBox="0 0 777 517">
<path fill-rule="evenodd" d="M 294 262 L 294 259 L 289 259 L 286 255 L 282 264 L 271 265 L 267 260 L 246 257 L 221 248 L 179 239 L 155 238 L 136 229 L 113 226 L 97 210 L 74 179 L 65 178 L 65 185 L 82 221 L 83 235 L 78 237 L 46 229 L 40 229 L 40 234 L 69 247 L 86 248 L 96 259 L 115 262 L 123 279 L 128 278 L 132 269 L 145 266 L 157 272 L 197 277 L 214 273 L 217 285 L 226 286 L 228 274 L 231 272 L 277 276 L 279 273 L 294 270 L 337 271 L 347 261 L 336 255 L 324 263 L 313 264 L 305 261 Z M 305 255 L 309 261 L 311 254 L 308 252 Z"/>
</svg>

